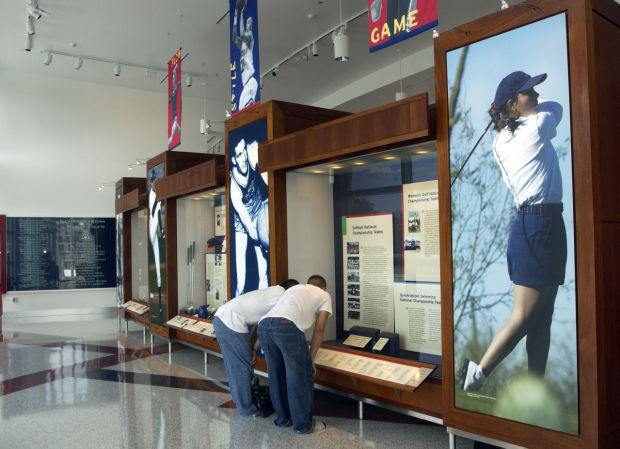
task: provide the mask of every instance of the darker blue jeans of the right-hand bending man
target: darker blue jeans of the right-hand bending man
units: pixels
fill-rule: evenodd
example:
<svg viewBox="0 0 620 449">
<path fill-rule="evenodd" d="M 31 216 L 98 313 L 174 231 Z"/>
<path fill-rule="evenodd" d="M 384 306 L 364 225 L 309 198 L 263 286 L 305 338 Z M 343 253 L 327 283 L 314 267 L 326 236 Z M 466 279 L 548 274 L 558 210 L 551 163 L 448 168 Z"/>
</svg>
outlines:
<svg viewBox="0 0 620 449">
<path fill-rule="evenodd" d="M 258 339 L 265 351 L 269 392 L 276 409 L 276 426 L 290 425 L 297 433 L 312 431 L 314 379 L 305 334 L 285 318 L 264 318 Z"/>
</svg>

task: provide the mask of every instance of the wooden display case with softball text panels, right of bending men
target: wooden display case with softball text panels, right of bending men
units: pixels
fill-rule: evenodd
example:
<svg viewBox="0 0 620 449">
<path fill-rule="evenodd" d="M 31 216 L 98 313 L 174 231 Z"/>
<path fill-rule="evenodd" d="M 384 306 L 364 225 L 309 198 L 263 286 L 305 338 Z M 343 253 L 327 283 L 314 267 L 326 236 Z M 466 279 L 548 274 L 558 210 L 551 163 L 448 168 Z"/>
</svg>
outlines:
<svg viewBox="0 0 620 449">
<path fill-rule="evenodd" d="M 332 296 L 315 382 L 441 422 L 433 118 L 426 95 L 408 98 L 262 143 L 259 161 L 286 175 L 289 275 L 321 274 Z M 428 370 L 397 388 L 392 365 L 368 371 L 365 357 Z"/>
</svg>

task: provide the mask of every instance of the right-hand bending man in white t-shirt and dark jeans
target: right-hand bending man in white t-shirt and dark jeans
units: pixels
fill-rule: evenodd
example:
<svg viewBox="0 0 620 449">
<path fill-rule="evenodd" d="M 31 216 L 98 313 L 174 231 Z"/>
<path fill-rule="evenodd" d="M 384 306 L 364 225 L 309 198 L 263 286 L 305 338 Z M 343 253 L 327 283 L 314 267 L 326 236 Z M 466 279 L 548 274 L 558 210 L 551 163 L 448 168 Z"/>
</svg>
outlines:
<svg viewBox="0 0 620 449">
<path fill-rule="evenodd" d="M 325 423 L 312 419 L 314 406 L 314 358 L 321 343 L 332 301 L 319 275 L 306 285 L 288 289 L 258 323 L 258 339 L 265 351 L 269 392 L 276 410 L 274 424 L 293 425 L 298 434 L 317 432 Z M 314 325 L 310 348 L 305 331 Z"/>
</svg>

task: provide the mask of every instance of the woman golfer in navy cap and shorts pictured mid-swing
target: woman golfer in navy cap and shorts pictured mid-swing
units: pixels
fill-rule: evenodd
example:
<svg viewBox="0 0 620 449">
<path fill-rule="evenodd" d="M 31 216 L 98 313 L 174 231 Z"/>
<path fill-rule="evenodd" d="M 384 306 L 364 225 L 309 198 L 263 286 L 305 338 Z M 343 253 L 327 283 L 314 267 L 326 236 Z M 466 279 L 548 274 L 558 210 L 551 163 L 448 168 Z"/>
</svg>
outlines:
<svg viewBox="0 0 620 449">
<path fill-rule="evenodd" d="M 493 142 L 495 160 L 518 211 L 506 251 L 514 304 L 480 364 L 465 359 L 461 368 L 461 387 L 465 390 L 479 389 L 523 337 L 529 372 L 541 377 L 545 374 L 551 316 L 566 268 L 562 176 L 551 144 L 562 118 L 562 106 L 551 101 L 539 104 L 534 90 L 546 78 L 547 74 L 509 74 L 499 83 L 489 110 L 499 131 Z"/>
</svg>

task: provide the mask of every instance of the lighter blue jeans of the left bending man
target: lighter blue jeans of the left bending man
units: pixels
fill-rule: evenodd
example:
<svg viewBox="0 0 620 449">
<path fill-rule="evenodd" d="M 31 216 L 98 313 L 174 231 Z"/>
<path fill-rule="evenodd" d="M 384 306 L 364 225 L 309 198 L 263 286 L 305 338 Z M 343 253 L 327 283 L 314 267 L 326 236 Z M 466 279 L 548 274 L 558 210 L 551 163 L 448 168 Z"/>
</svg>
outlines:
<svg viewBox="0 0 620 449">
<path fill-rule="evenodd" d="M 213 318 L 215 336 L 224 357 L 224 367 L 230 385 L 230 394 L 241 416 L 258 416 L 260 413 L 254 401 L 250 385 L 254 370 L 250 334 L 235 332 L 226 326 L 219 317 Z"/>
</svg>

